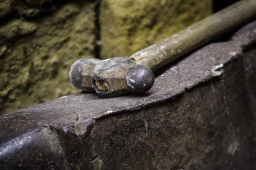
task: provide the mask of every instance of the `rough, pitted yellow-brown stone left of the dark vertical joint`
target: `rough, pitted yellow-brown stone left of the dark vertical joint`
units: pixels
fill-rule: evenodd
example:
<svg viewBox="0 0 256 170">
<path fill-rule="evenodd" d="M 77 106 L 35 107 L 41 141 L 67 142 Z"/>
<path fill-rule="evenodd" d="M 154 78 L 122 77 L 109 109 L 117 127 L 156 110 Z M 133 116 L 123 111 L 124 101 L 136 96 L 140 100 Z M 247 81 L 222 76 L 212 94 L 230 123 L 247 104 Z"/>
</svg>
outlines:
<svg viewBox="0 0 256 170">
<path fill-rule="evenodd" d="M 26 0 L 37 6 L 51 0 Z M 0 1 L 0 8 L 11 0 Z M 0 25 L 0 113 L 78 92 L 68 71 L 79 58 L 94 57 L 95 3 L 66 1 L 40 8 L 15 6 L 20 15 Z M 25 7 L 24 7 L 25 6 Z M 8 7 L 4 9 L 9 9 Z"/>
</svg>

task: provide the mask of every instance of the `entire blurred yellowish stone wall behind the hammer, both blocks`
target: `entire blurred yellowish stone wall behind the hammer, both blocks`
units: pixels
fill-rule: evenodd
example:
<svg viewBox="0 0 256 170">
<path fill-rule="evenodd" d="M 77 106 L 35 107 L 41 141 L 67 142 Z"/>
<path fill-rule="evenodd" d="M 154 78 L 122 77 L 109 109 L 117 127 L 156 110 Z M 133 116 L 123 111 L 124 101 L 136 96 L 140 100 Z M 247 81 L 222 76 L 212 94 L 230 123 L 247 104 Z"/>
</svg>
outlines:
<svg viewBox="0 0 256 170">
<path fill-rule="evenodd" d="M 211 0 L 0 0 L 0 113 L 75 94 L 75 60 L 130 55 L 211 11 Z"/>
</svg>

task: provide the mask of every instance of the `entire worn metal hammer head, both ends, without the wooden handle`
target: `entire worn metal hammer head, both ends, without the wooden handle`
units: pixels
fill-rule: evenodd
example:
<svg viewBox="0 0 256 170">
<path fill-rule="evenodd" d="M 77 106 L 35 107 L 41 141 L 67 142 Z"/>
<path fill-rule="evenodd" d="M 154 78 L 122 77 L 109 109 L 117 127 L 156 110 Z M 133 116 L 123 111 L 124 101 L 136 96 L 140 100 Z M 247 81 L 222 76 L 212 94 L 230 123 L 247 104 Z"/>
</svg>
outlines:
<svg viewBox="0 0 256 170">
<path fill-rule="evenodd" d="M 101 97 L 117 97 L 126 93 L 142 93 L 154 85 L 150 68 L 129 57 L 106 60 L 80 59 L 70 68 L 70 82 L 85 91 L 95 90 Z"/>
</svg>

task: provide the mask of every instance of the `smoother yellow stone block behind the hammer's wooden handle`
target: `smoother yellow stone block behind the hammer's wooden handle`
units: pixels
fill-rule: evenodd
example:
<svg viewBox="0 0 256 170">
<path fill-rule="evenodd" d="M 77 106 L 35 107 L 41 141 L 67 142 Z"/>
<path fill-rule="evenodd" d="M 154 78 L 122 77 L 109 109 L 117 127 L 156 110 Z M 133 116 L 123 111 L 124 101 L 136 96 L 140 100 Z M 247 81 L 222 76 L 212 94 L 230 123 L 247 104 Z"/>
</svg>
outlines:
<svg viewBox="0 0 256 170">
<path fill-rule="evenodd" d="M 102 58 L 129 56 L 208 16 L 212 0 L 102 0 Z"/>
</svg>

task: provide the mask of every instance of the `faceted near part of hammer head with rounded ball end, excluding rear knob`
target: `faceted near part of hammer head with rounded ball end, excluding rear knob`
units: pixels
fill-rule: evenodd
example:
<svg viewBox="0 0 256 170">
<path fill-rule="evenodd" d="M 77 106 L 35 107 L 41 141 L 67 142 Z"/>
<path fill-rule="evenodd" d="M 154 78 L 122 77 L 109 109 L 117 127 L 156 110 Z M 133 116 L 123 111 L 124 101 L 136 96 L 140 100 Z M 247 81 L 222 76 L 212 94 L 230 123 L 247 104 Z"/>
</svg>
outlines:
<svg viewBox="0 0 256 170">
<path fill-rule="evenodd" d="M 154 73 L 129 57 L 115 57 L 96 64 L 93 85 L 101 97 L 142 93 L 154 85 Z"/>
</svg>

